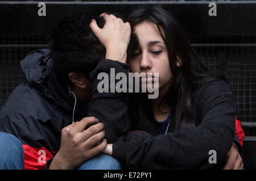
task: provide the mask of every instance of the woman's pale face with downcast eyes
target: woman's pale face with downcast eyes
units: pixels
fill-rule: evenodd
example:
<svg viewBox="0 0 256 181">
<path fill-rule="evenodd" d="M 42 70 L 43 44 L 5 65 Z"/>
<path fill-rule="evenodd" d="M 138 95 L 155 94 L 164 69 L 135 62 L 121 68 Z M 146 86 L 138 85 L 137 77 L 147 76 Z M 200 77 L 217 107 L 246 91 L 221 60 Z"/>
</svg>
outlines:
<svg viewBox="0 0 256 181">
<path fill-rule="evenodd" d="M 152 73 L 152 76 L 154 76 L 152 79 L 153 84 L 156 78 L 154 73 L 159 73 L 159 93 L 162 90 L 167 91 L 171 86 L 172 73 L 166 45 L 158 31 L 158 27 L 156 24 L 146 21 L 137 24 L 134 27 L 134 32 L 139 39 L 139 48 L 133 52 L 130 60 L 127 61 L 130 64 L 130 71 L 139 74 Z M 148 79 L 141 79 L 141 81 L 147 82 Z"/>
</svg>

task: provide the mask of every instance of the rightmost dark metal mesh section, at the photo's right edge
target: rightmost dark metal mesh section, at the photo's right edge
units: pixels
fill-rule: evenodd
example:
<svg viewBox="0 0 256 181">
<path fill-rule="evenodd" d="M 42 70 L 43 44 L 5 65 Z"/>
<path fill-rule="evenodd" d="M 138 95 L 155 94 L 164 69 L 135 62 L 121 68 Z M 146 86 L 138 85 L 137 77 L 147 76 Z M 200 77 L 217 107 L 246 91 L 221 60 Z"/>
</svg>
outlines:
<svg viewBox="0 0 256 181">
<path fill-rule="evenodd" d="M 237 115 L 256 122 L 256 48 L 229 48 L 226 76 L 233 85 Z"/>
</svg>

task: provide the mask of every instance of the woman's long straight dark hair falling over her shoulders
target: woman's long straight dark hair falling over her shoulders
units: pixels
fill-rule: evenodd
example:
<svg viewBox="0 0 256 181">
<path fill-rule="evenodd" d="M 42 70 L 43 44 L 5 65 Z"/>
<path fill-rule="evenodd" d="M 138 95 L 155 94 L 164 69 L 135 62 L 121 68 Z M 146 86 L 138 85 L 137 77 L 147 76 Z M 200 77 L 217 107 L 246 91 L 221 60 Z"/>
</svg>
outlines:
<svg viewBox="0 0 256 181">
<path fill-rule="evenodd" d="M 192 92 L 207 82 L 218 79 L 225 80 L 224 76 L 210 73 L 205 68 L 192 49 L 179 23 L 162 6 L 141 6 L 131 12 L 127 18 L 127 22 L 131 24 L 132 31 L 137 24 L 144 21 L 156 24 L 167 47 L 173 80 L 171 88 L 164 98 L 172 107 L 172 124 L 175 124 L 175 129 L 200 124 L 198 120 L 195 120 L 196 107 L 192 103 L 196 100 L 192 100 Z M 128 58 L 137 47 L 138 41 L 131 39 Z M 182 63 L 179 68 L 176 66 L 177 56 L 180 57 Z M 197 91 L 196 99 L 199 95 L 200 92 Z M 153 113 L 148 101 L 147 96 L 143 94 L 130 94 L 131 119 L 137 121 L 137 128 L 142 127 L 142 125 L 143 127 L 146 126 L 147 122 L 150 119 L 152 120 Z"/>
</svg>

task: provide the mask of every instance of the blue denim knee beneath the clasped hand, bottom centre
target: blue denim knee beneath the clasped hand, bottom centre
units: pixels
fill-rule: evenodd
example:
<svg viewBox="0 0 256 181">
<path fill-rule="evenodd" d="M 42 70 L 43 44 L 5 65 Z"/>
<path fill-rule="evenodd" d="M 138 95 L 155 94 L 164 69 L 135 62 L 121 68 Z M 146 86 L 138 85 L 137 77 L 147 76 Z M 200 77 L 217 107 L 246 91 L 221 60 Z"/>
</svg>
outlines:
<svg viewBox="0 0 256 181">
<path fill-rule="evenodd" d="M 117 159 L 108 154 L 99 153 L 88 159 L 77 170 L 121 170 Z"/>
</svg>

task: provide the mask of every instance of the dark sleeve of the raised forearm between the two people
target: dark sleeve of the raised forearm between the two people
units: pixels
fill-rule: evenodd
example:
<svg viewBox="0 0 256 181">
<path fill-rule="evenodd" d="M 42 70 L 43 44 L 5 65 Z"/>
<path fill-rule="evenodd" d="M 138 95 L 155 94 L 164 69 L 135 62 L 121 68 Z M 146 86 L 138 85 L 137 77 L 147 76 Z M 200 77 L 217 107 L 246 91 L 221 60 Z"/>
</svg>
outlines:
<svg viewBox="0 0 256 181">
<path fill-rule="evenodd" d="M 131 127 L 127 115 L 128 68 L 128 64 L 105 59 L 100 61 L 96 69 L 90 73 L 93 95 L 87 115 L 94 116 L 104 123 L 105 138 L 108 144 L 126 134 Z M 116 77 L 117 80 L 115 80 Z M 119 89 L 115 90 L 118 87 Z"/>
</svg>

